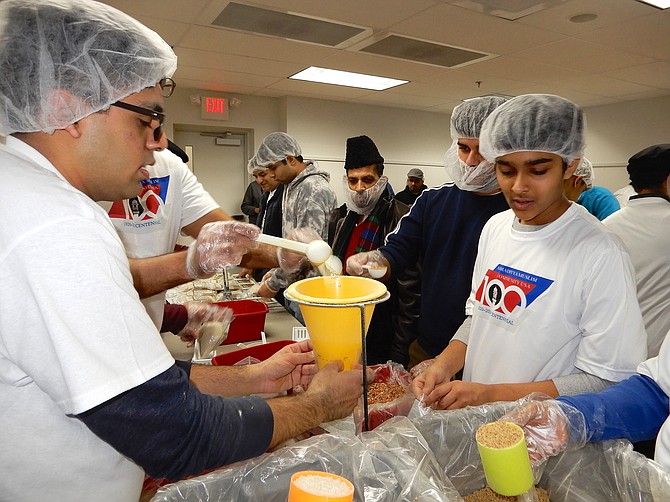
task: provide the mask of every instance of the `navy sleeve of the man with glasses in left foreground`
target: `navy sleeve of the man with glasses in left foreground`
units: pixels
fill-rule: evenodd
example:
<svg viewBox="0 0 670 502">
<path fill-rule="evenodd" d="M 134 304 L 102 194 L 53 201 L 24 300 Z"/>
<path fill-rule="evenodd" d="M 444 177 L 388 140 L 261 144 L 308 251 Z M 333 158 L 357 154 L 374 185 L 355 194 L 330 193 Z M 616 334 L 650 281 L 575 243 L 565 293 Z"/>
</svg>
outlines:
<svg viewBox="0 0 670 502">
<path fill-rule="evenodd" d="M 262 398 L 202 394 L 177 366 L 78 418 L 149 475 L 171 481 L 264 453 L 274 429 Z"/>
</svg>

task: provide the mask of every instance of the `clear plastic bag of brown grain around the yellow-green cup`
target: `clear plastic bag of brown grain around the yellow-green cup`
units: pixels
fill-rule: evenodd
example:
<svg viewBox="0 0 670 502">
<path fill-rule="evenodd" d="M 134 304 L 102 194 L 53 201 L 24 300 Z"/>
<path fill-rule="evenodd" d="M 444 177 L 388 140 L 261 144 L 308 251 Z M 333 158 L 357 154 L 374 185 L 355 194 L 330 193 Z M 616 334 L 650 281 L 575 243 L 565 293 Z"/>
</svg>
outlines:
<svg viewBox="0 0 670 502">
<path fill-rule="evenodd" d="M 421 416 L 415 406 L 409 417 L 425 438 L 443 473 L 462 495 L 486 485 L 475 432 L 519 402 L 493 403 Z M 628 441 L 587 444 L 549 459 L 536 472 L 538 486 L 552 502 L 670 500 L 670 473 L 633 451 Z"/>
</svg>

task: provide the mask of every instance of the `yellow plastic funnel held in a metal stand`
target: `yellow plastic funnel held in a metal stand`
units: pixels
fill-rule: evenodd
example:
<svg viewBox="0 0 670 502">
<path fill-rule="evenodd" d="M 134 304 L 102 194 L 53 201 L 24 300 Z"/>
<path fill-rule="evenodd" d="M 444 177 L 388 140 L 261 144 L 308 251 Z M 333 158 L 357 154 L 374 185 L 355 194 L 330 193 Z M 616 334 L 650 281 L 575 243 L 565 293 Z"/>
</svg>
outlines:
<svg viewBox="0 0 670 502">
<path fill-rule="evenodd" d="M 388 299 L 381 282 L 343 275 L 295 282 L 284 296 L 300 306 L 319 368 L 340 360 L 345 370 L 361 360 L 362 310 L 367 333 L 375 304 Z"/>
</svg>

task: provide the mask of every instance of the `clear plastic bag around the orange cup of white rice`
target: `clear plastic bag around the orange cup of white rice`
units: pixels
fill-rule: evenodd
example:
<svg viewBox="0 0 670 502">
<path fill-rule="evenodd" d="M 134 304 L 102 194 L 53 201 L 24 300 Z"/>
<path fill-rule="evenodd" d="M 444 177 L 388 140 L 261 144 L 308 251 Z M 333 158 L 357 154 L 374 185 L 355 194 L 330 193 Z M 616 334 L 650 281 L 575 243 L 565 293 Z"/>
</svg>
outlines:
<svg viewBox="0 0 670 502">
<path fill-rule="evenodd" d="M 392 426 L 386 429 L 387 424 Z M 291 475 L 326 471 L 354 484 L 357 502 L 451 502 L 461 497 L 414 426 L 401 417 L 361 436 L 321 434 L 253 460 L 162 487 L 153 502 L 286 502 Z"/>
</svg>

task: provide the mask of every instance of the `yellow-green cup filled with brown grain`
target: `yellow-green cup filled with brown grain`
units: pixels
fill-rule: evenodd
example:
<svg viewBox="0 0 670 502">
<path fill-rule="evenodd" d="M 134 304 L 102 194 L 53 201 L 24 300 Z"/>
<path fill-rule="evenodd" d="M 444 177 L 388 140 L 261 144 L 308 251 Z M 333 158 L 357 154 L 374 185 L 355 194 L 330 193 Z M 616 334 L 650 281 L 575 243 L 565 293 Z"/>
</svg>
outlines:
<svg viewBox="0 0 670 502">
<path fill-rule="evenodd" d="M 511 422 L 491 422 L 477 430 L 476 439 L 491 490 L 515 497 L 533 487 L 533 470 L 521 427 Z"/>
</svg>

